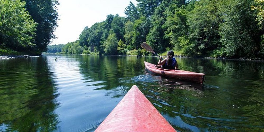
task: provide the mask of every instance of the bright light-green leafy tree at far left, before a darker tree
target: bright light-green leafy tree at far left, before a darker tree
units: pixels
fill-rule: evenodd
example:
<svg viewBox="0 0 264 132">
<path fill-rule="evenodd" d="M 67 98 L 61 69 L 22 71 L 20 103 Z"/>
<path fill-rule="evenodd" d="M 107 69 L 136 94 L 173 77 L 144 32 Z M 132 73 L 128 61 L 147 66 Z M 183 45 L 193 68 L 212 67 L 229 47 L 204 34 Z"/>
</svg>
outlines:
<svg viewBox="0 0 264 132">
<path fill-rule="evenodd" d="M 35 50 L 36 23 L 26 12 L 26 2 L 0 0 L 0 48 Z"/>
</svg>

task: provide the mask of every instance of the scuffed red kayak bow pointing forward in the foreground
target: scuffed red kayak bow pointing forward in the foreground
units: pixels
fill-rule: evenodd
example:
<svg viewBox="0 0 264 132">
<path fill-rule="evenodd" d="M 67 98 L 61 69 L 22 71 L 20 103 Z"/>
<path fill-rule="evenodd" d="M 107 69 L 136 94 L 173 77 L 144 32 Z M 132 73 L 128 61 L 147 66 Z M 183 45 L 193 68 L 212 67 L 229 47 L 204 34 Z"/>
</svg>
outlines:
<svg viewBox="0 0 264 132">
<path fill-rule="evenodd" d="M 95 131 L 175 131 L 135 85 Z"/>
</svg>

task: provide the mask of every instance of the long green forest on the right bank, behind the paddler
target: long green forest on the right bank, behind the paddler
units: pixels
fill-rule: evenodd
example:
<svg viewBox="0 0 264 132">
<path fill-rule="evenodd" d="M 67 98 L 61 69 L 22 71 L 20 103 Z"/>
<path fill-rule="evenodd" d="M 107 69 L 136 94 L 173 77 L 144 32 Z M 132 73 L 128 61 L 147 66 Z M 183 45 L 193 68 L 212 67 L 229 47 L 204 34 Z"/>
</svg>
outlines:
<svg viewBox="0 0 264 132">
<path fill-rule="evenodd" d="M 85 27 L 64 54 L 147 55 L 174 50 L 186 56 L 263 57 L 264 0 L 137 0 L 126 17 L 107 15 Z"/>
</svg>

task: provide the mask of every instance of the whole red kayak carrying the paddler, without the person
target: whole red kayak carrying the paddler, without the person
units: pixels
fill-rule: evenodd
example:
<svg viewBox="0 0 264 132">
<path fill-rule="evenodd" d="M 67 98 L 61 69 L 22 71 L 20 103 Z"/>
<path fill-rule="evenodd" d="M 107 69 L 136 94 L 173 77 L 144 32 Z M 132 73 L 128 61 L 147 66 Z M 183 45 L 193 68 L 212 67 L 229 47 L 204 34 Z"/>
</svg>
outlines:
<svg viewBox="0 0 264 132">
<path fill-rule="evenodd" d="M 192 81 L 196 83 L 203 83 L 205 79 L 205 74 L 204 73 L 196 73 L 196 72 L 189 72 L 185 70 L 166 70 L 166 69 L 161 69 L 161 66 L 159 65 L 154 65 L 148 62 L 144 62 L 145 68 L 148 69 L 150 72 L 165 76 L 165 77 L 170 77 L 170 78 L 175 78 L 175 79 L 180 79 L 180 80 L 186 80 L 186 81 Z"/>
</svg>

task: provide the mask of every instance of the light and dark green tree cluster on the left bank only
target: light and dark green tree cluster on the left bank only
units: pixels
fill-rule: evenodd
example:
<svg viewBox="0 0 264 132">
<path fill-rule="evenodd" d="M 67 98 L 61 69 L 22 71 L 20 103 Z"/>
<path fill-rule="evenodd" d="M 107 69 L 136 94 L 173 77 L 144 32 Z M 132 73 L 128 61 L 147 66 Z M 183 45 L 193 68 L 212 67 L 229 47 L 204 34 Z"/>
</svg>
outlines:
<svg viewBox="0 0 264 132">
<path fill-rule="evenodd" d="M 58 26 L 57 0 L 0 0 L 0 49 L 41 54 Z"/>
</svg>

